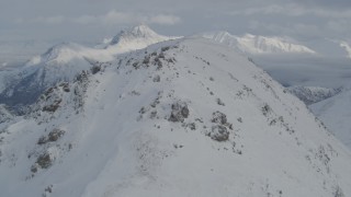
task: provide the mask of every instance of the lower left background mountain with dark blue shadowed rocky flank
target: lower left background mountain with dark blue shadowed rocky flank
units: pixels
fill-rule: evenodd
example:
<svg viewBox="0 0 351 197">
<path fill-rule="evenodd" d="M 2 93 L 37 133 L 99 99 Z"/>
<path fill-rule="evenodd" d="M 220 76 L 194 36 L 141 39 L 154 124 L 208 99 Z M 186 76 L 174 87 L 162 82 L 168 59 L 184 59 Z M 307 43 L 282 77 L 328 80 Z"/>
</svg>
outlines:
<svg viewBox="0 0 351 197">
<path fill-rule="evenodd" d="M 57 82 L 73 80 L 95 62 L 88 61 L 87 50 L 77 44 L 60 44 L 32 58 L 24 67 L 8 72 L 2 78 L 7 84 L 0 93 L 0 103 L 20 109 Z"/>
</svg>

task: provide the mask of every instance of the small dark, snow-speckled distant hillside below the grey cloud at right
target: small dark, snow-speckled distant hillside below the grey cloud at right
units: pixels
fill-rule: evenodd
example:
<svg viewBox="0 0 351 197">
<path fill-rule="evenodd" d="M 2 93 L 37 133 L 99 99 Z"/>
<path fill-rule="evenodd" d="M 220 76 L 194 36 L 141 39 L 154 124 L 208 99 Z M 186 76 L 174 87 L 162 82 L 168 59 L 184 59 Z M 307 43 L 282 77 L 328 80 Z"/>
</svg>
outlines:
<svg viewBox="0 0 351 197">
<path fill-rule="evenodd" d="M 306 105 L 318 103 L 341 92 L 341 89 L 327 89 L 321 86 L 294 85 L 286 88 L 288 92 L 296 95 Z"/>
</svg>

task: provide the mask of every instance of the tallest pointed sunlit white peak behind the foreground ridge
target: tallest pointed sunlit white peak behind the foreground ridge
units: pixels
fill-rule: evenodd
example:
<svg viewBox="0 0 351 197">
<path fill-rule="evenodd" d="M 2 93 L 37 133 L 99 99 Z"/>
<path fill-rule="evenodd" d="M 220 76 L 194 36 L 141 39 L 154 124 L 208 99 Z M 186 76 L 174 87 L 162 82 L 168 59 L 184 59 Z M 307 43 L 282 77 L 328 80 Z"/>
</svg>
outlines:
<svg viewBox="0 0 351 197">
<path fill-rule="evenodd" d="M 112 54 L 122 54 L 174 38 L 178 37 L 159 35 L 146 25 L 138 25 L 133 28 L 122 31 L 110 42 L 105 42 L 106 44 L 104 48 Z"/>
</svg>

